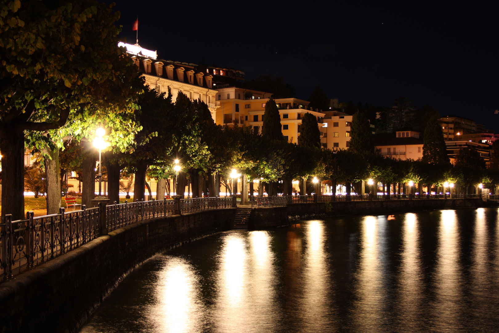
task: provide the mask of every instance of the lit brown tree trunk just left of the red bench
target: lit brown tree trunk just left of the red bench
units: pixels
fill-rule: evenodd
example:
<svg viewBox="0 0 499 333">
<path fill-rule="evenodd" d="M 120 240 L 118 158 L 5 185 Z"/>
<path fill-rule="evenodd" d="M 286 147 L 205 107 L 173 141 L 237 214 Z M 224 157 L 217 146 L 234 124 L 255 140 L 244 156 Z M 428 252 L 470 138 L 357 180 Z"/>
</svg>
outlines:
<svg viewBox="0 0 499 333">
<path fill-rule="evenodd" d="M 44 149 L 45 179 L 47 182 L 47 215 L 58 214 L 61 206 L 61 179 L 59 167 L 59 148 Z"/>
</svg>

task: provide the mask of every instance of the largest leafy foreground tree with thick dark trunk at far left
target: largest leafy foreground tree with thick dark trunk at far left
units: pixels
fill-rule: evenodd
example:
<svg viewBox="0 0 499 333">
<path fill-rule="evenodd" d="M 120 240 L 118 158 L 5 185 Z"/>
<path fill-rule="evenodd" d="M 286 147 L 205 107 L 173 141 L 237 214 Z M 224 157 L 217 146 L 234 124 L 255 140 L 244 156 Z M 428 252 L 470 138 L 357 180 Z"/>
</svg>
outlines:
<svg viewBox="0 0 499 333">
<path fill-rule="evenodd" d="M 72 112 L 85 118 L 110 105 L 128 109 L 133 75 L 131 60 L 117 47 L 119 13 L 111 6 L 93 0 L 1 6 L 1 214 L 20 219 L 24 131 L 60 128 Z"/>
</svg>

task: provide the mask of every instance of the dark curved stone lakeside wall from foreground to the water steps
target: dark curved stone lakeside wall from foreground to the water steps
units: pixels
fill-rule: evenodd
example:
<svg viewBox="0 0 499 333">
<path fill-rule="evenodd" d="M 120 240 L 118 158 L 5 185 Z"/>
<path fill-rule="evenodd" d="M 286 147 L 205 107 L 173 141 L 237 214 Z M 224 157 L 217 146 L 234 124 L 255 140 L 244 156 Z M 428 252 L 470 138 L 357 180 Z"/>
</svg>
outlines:
<svg viewBox="0 0 499 333">
<path fill-rule="evenodd" d="M 138 222 L 0 284 L 0 332 L 77 332 L 137 265 L 171 247 L 229 230 L 235 210 Z"/>
</svg>

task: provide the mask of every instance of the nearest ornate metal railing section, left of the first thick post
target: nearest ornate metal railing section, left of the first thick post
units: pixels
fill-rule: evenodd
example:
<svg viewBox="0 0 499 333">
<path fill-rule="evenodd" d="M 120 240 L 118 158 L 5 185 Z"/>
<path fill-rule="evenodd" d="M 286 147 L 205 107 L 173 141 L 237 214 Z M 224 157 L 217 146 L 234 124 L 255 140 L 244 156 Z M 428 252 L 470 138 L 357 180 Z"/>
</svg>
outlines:
<svg viewBox="0 0 499 333">
<path fill-rule="evenodd" d="M 5 280 L 36 264 L 47 262 L 100 236 L 99 208 L 12 221 L 5 215 L 0 224 L 0 277 Z"/>
</svg>

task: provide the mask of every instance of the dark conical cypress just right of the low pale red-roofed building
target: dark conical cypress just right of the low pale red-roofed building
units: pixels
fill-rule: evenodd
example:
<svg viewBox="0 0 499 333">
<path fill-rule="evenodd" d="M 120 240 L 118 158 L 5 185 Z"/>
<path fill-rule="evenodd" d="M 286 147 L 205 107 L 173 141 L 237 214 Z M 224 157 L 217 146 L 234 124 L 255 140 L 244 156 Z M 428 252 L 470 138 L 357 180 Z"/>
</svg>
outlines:
<svg viewBox="0 0 499 333">
<path fill-rule="evenodd" d="M 423 139 L 423 161 L 431 164 L 450 163 L 444 141 L 444 132 L 436 114 L 430 117 L 426 124 Z"/>
</svg>

